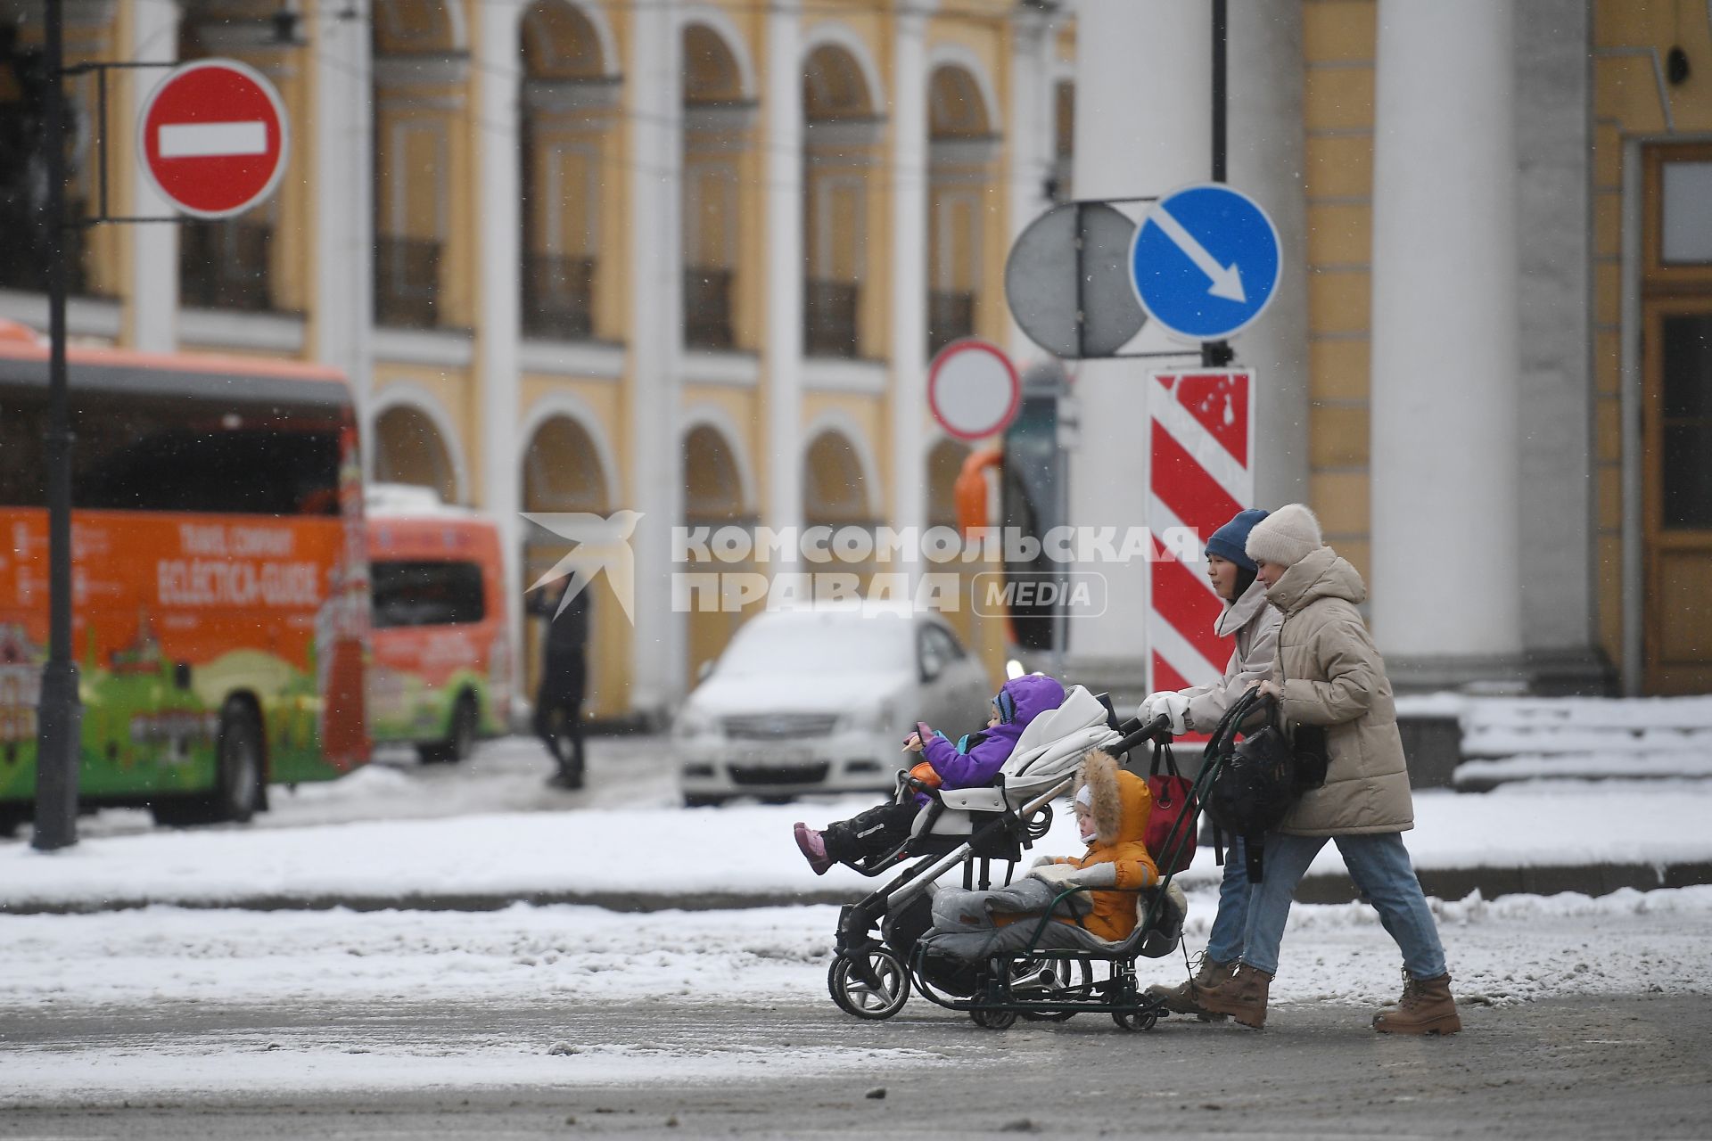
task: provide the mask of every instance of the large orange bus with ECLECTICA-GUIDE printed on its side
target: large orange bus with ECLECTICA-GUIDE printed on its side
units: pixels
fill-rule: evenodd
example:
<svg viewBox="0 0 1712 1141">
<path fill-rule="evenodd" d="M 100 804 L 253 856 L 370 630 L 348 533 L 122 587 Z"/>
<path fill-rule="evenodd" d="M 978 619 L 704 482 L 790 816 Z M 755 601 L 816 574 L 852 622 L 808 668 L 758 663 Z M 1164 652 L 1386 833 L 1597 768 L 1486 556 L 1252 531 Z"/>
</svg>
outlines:
<svg viewBox="0 0 1712 1141">
<path fill-rule="evenodd" d="M 325 368 L 68 351 L 80 801 L 247 821 L 368 760 L 356 419 Z M 48 659 L 48 351 L 0 327 L 0 835 Z"/>
</svg>

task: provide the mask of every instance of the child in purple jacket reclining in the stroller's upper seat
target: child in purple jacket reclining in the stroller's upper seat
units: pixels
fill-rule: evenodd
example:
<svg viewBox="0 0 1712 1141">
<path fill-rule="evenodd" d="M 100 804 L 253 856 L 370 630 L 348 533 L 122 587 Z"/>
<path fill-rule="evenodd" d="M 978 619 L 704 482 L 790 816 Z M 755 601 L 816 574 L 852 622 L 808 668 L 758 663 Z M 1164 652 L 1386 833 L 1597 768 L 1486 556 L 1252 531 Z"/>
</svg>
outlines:
<svg viewBox="0 0 1712 1141">
<path fill-rule="evenodd" d="M 926 758 L 942 789 L 978 789 L 991 783 L 1005 766 L 1029 722 L 1058 708 L 1063 700 L 1065 688 L 1044 674 L 1012 677 L 993 698 L 984 730 L 967 734 L 957 744 L 938 732 L 926 741 L 912 736 L 904 748 Z M 880 804 L 820 831 L 798 823 L 796 847 L 815 874 L 825 876 L 834 864 L 854 864 L 865 855 L 895 848 L 909 837 L 924 802 L 924 797 L 916 797 Z"/>
</svg>

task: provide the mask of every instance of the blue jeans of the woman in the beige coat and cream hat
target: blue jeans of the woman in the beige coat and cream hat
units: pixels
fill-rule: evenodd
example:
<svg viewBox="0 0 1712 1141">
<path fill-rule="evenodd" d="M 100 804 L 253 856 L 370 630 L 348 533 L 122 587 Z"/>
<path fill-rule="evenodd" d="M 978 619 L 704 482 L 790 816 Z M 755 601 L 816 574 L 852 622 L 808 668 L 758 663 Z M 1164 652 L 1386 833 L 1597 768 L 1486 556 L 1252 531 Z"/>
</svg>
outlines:
<svg viewBox="0 0 1712 1141">
<path fill-rule="evenodd" d="M 1248 893 L 1248 927 L 1243 932 L 1243 961 L 1269 975 L 1279 970 L 1279 944 L 1296 884 L 1327 840 L 1337 842 L 1356 890 L 1380 913 L 1380 922 L 1402 951 L 1404 970 L 1412 978 L 1445 973 L 1445 948 L 1426 907 L 1421 881 L 1409 866 L 1400 831 L 1363 837 L 1267 837 L 1265 879 Z"/>
</svg>

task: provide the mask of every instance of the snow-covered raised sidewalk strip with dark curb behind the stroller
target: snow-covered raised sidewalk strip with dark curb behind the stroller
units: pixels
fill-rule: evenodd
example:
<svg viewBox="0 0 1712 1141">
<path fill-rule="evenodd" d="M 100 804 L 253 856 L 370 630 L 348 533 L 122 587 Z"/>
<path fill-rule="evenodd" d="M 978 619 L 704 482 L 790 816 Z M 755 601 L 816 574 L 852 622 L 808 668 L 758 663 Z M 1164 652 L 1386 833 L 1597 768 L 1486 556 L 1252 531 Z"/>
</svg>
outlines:
<svg viewBox="0 0 1712 1141">
<path fill-rule="evenodd" d="M 1495 898 L 1712 883 L 1712 787 L 1626 782 L 1416 794 L 1406 840 L 1430 895 Z M 623 910 L 757 907 L 856 898 L 878 881 L 813 876 L 791 821 L 822 825 L 866 799 L 724 809 L 623 809 L 395 819 L 306 828 L 211 828 L 89 838 L 39 854 L 0 843 L 0 912 L 94 912 L 171 903 L 247 908 L 486 910 L 514 902 Z M 1067 813 L 1036 852 L 1079 852 Z M 1185 886 L 1219 874 L 1197 854 Z M 1352 891 L 1335 847 L 1303 902 Z"/>
</svg>

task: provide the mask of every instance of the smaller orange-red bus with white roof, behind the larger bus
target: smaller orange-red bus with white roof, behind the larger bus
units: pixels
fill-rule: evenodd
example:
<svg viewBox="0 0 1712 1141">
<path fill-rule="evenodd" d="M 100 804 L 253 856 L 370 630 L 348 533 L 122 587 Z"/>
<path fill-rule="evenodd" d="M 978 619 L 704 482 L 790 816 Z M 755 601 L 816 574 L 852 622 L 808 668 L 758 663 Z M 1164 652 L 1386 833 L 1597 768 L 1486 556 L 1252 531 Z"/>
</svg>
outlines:
<svg viewBox="0 0 1712 1141">
<path fill-rule="evenodd" d="M 370 734 L 462 761 L 512 705 L 500 529 L 428 488 L 368 488 Z"/>
</svg>

